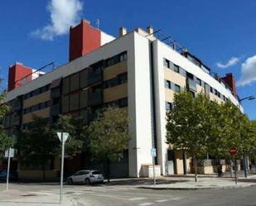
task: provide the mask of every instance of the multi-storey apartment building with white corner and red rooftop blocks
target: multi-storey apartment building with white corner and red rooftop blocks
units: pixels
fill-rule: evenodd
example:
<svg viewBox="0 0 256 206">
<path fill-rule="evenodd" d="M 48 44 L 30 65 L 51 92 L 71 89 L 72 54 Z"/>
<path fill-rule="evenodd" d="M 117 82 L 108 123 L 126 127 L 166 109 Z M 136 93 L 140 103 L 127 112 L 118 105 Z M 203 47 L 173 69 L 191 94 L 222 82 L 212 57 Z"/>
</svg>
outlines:
<svg viewBox="0 0 256 206">
<path fill-rule="evenodd" d="M 151 26 L 130 32 L 121 27 L 114 38 L 82 20 L 70 27 L 69 52 L 67 64 L 48 73 L 36 70 L 37 76 L 20 63 L 10 67 L 4 102 L 12 105 L 12 112 L 2 123 L 15 134 L 29 129 L 33 114 L 49 123 L 65 113 L 90 122 L 109 103 L 126 108 L 133 137 L 123 160 L 112 164 L 115 176 L 142 176 L 142 166 L 152 164 L 152 148 L 157 149 L 162 175 L 190 170 L 191 159 L 166 144 L 166 112 L 174 93 L 203 91 L 219 103 L 230 99 L 239 105 L 232 74 L 213 77 L 196 56 L 160 41 Z M 78 165 L 75 170 L 88 166 L 83 161 Z M 54 176 L 59 169 L 59 161 L 53 160 L 48 173 Z"/>
</svg>

